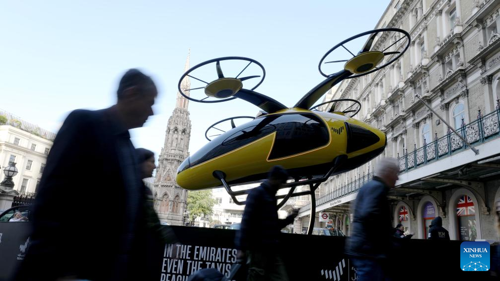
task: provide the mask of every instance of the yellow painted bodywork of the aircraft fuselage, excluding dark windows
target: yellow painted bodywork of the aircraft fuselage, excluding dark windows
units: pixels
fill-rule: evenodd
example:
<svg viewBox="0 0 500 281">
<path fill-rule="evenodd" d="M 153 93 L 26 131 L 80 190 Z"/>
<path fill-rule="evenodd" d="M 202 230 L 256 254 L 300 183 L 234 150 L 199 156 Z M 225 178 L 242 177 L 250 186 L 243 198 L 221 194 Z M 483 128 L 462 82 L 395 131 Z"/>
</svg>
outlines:
<svg viewBox="0 0 500 281">
<path fill-rule="evenodd" d="M 327 144 L 294 155 L 269 159 L 276 136 L 276 132 L 272 132 L 253 142 L 179 172 L 176 176 L 177 184 L 186 189 L 211 188 L 221 185 L 220 181 L 212 175 L 214 170 L 223 171 L 226 174 L 226 181 L 230 182 L 249 175 L 265 174 L 273 165 L 282 165 L 285 169 L 309 167 L 330 163 L 338 155 L 346 154 L 348 158 L 355 157 L 385 145 L 383 132 L 341 114 L 322 111 L 311 112 L 299 108 L 284 109 L 273 114 L 302 112 L 314 113 L 316 116 L 320 116 L 324 124 L 328 126 L 329 140 Z M 269 115 L 271 114 L 266 116 Z M 380 137 L 380 141 L 358 151 L 346 153 L 347 132 L 344 122 L 362 126 L 376 133 Z"/>
</svg>

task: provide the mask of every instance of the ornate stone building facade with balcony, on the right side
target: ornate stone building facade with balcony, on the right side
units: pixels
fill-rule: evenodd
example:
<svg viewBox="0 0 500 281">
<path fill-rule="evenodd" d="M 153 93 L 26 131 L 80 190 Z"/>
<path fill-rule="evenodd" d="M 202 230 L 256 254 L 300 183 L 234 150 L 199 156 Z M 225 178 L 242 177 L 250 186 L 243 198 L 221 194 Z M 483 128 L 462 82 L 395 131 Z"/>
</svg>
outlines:
<svg viewBox="0 0 500 281">
<path fill-rule="evenodd" d="M 397 186 L 390 193 L 393 224 L 425 238 L 439 215 L 452 239 L 495 239 L 494 200 L 500 198 L 500 1 L 392 0 L 376 28 L 398 27 L 410 47 L 386 68 L 344 80 L 332 99 L 354 98 L 355 118 L 387 135 L 382 155 L 331 177 L 321 186 L 316 211 L 329 211 L 349 232 L 351 202 L 384 156 L 397 157 Z M 498 26 L 498 27 L 497 27 Z M 400 50 L 404 40 L 386 33 L 374 43 Z M 472 146 L 433 114 L 422 99 Z M 301 209 L 302 223 L 308 207 Z M 300 224 L 299 224 L 300 225 Z"/>
</svg>

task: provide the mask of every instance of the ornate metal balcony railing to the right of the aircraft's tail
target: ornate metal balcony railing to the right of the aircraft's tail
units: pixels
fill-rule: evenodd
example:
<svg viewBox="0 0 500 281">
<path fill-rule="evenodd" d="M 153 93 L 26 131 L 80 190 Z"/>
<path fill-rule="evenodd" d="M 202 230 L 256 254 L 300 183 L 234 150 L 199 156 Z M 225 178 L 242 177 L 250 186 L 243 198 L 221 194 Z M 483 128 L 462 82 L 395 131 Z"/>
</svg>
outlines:
<svg viewBox="0 0 500 281">
<path fill-rule="evenodd" d="M 481 116 L 480 111 L 478 118 L 468 124 L 464 124 L 456 131 L 460 133 L 470 144 L 481 143 L 492 138 L 498 137 L 500 123 L 500 109 Z M 434 137 L 434 141 L 425 143 L 422 147 L 413 149 L 412 152 L 407 152 L 399 157 L 399 171 L 406 172 L 408 170 L 425 165 L 428 162 L 436 161 L 439 158 L 457 153 L 467 148 L 467 145 L 460 139 L 458 135 L 449 130 L 449 132 L 440 137 Z"/>
</svg>

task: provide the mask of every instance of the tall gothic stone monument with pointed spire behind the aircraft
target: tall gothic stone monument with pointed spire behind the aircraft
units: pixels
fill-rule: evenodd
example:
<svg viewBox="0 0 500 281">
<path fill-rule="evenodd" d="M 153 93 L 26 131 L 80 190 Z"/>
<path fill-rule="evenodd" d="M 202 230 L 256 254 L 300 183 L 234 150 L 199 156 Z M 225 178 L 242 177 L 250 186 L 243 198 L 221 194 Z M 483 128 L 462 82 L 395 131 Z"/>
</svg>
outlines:
<svg viewBox="0 0 500 281">
<path fill-rule="evenodd" d="M 189 51 L 190 52 L 190 51 Z M 189 69 L 189 52 L 184 72 Z M 189 88 L 189 78 L 181 82 L 182 89 Z M 184 91 L 186 94 L 188 92 Z M 187 203 L 187 190 L 175 183 L 177 167 L 189 155 L 189 136 L 191 121 L 187 111 L 188 99 L 177 92 L 177 100 L 172 115 L 168 118 L 165 142 L 158 158 L 158 167 L 154 178 L 154 208 L 161 221 L 170 225 L 182 225 L 183 213 Z"/>
</svg>

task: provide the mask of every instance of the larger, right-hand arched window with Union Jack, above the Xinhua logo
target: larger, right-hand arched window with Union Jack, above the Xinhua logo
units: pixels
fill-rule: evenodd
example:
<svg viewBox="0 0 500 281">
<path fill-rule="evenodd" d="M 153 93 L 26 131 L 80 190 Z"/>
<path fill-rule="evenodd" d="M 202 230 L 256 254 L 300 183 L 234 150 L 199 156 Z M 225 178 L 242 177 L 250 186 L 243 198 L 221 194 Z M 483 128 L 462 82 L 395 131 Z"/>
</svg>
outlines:
<svg viewBox="0 0 500 281">
<path fill-rule="evenodd" d="M 458 239 L 474 241 L 477 239 L 475 209 L 472 198 L 463 194 L 456 201 L 456 216 L 458 220 Z"/>
</svg>

